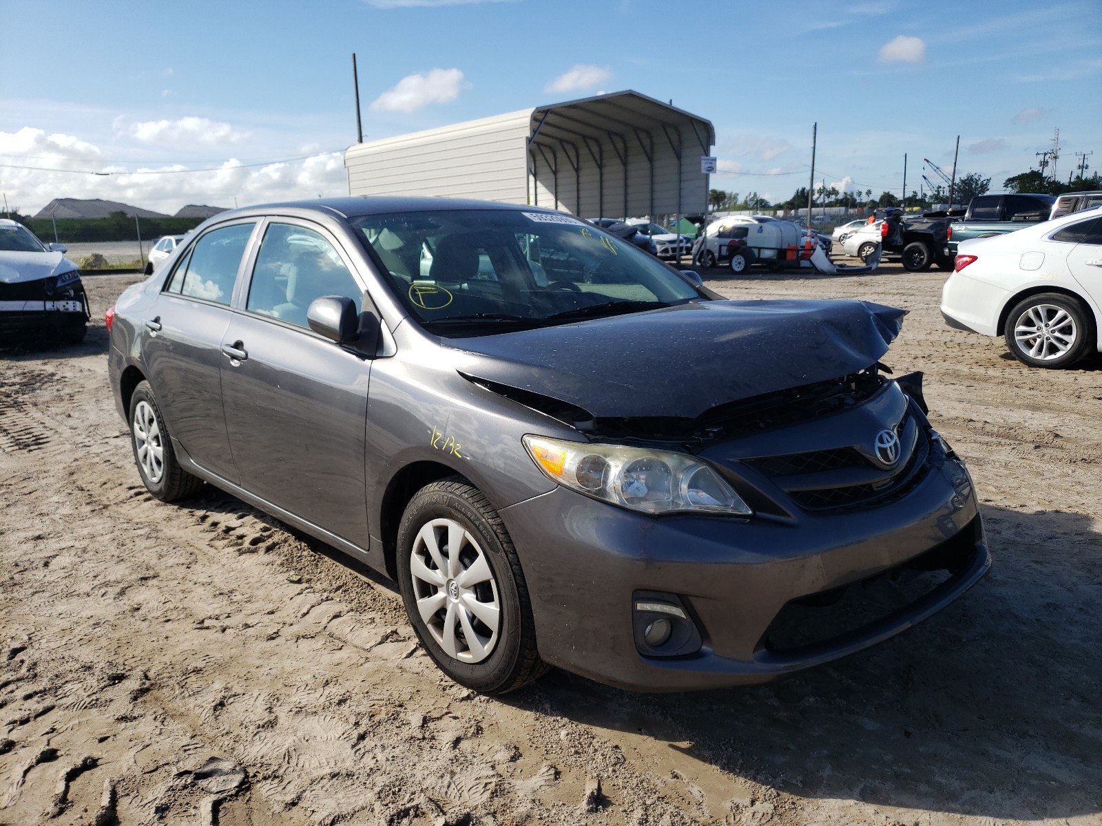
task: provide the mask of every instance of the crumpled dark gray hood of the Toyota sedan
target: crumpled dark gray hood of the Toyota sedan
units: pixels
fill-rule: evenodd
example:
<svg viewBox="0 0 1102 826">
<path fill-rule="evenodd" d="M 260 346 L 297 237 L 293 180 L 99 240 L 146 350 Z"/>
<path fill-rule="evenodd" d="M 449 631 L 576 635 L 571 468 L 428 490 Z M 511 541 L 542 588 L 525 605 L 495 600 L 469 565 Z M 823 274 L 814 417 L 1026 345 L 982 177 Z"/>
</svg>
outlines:
<svg viewBox="0 0 1102 826">
<path fill-rule="evenodd" d="M 887 352 L 904 315 L 862 301 L 709 301 L 449 345 L 466 376 L 598 419 L 695 419 L 863 370 Z"/>
</svg>

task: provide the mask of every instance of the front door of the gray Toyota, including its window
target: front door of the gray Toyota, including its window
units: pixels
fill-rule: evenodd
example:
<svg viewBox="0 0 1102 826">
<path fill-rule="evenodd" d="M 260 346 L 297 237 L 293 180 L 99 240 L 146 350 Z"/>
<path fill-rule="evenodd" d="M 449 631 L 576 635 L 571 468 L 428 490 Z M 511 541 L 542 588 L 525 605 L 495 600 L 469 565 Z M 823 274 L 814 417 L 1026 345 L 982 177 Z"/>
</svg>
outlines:
<svg viewBox="0 0 1102 826">
<path fill-rule="evenodd" d="M 240 485 L 367 547 L 364 438 L 371 362 L 318 336 L 306 307 L 356 301 L 350 261 L 321 227 L 272 220 L 223 336 L 223 402 Z"/>
</svg>

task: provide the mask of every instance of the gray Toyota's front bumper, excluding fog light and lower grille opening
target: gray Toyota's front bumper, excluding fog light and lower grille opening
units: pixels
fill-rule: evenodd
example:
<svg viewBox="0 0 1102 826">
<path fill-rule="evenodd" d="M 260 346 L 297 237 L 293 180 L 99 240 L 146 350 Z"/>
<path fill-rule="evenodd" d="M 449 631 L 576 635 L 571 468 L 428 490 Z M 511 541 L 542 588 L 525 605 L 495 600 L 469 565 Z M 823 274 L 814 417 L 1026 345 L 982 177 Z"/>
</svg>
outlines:
<svg viewBox="0 0 1102 826">
<path fill-rule="evenodd" d="M 836 660 L 936 613 L 991 566 L 971 481 L 948 457 L 900 499 L 792 523 L 651 519 L 562 488 L 501 518 L 525 569 L 540 655 L 634 691 L 763 683 Z M 894 574 L 936 550 L 952 553 L 951 575 L 918 599 L 814 644 L 770 645 L 770 629 L 793 600 Z M 637 591 L 676 595 L 700 631 L 700 650 L 641 654 Z"/>
</svg>

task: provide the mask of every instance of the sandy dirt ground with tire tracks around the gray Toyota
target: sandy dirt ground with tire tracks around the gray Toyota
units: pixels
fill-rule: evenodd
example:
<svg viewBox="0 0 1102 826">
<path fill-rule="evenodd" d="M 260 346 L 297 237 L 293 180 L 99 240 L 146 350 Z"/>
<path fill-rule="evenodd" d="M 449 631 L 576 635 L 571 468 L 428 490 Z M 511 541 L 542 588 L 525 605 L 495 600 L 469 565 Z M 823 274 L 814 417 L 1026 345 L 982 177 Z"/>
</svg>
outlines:
<svg viewBox="0 0 1102 826">
<path fill-rule="evenodd" d="M 1102 823 L 1102 363 L 947 328 L 938 271 L 713 274 L 910 311 L 885 361 L 926 372 L 995 557 L 964 598 L 768 686 L 475 695 L 385 580 L 215 490 L 145 493 L 102 325 L 133 276 L 88 279 L 83 346 L 0 356 L 0 823 Z"/>
</svg>

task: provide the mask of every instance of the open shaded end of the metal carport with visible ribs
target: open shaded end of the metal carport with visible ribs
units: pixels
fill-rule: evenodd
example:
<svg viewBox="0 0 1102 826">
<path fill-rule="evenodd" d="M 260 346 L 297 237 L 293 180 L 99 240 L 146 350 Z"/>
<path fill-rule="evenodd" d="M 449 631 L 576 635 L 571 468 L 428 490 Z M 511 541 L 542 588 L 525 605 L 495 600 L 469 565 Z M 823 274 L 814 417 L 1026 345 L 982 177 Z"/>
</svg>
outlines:
<svg viewBox="0 0 1102 826">
<path fill-rule="evenodd" d="M 703 213 L 711 121 L 625 90 L 532 110 L 528 202 L 590 218 Z"/>
</svg>

